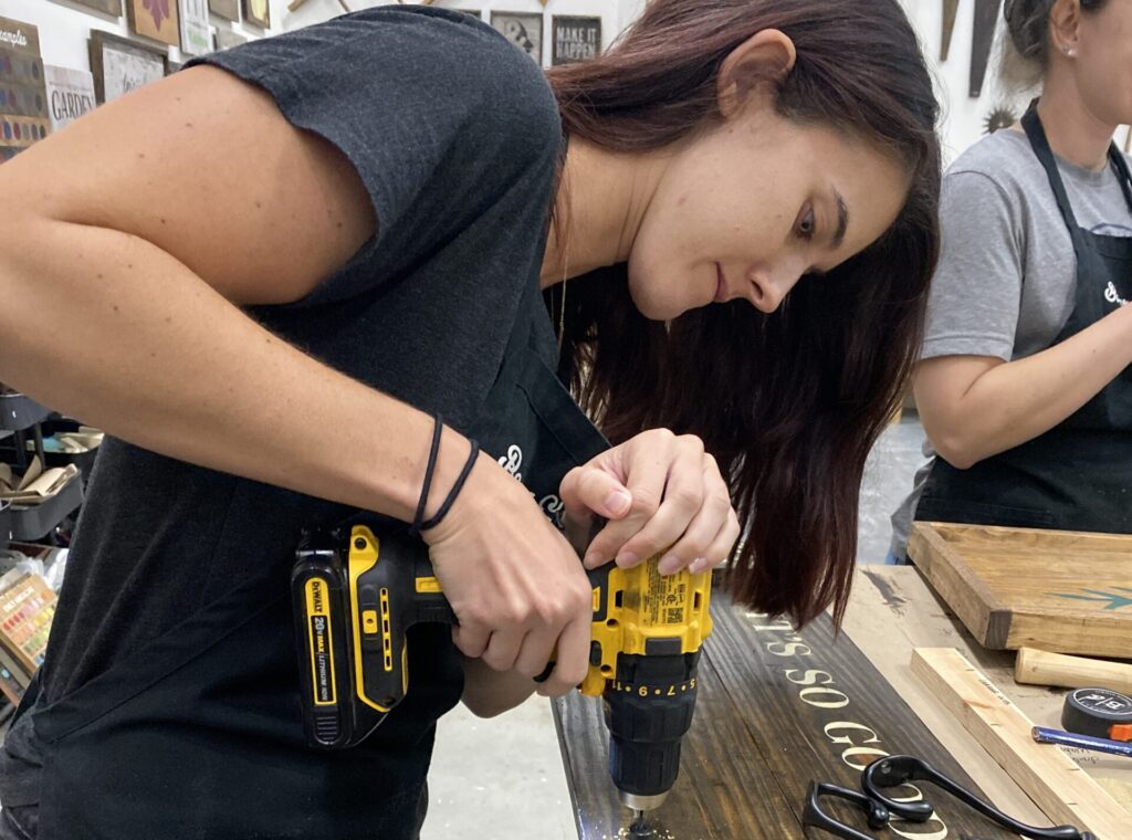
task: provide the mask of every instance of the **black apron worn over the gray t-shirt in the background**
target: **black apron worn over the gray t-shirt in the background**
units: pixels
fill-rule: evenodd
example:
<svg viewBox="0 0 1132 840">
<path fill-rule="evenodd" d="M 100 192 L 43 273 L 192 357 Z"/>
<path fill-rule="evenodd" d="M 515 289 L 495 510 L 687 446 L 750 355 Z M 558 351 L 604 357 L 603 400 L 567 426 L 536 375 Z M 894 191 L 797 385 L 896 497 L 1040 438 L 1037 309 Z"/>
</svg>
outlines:
<svg viewBox="0 0 1132 840">
<path fill-rule="evenodd" d="M 1077 255 L 1073 311 L 1054 343 L 1132 300 L 1132 238 L 1078 225 L 1036 102 L 1022 118 L 1049 178 Z M 1132 177 L 1113 145 L 1108 157 L 1132 211 Z M 941 457 L 916 508 L 924 522 L 1132 533 L 1132 367 L 1062 423 L 968 470 Z"/>
</svg>

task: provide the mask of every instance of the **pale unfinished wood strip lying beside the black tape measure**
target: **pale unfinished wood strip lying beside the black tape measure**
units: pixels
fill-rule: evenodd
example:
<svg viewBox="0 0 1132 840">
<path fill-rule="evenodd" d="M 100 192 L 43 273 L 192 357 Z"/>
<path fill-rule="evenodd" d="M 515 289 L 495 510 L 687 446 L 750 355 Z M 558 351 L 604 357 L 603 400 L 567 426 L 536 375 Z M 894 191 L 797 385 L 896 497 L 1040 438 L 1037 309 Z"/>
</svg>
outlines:
<svg viewBox="0 0 1132 840">
<path fill-rule="evenodd" d="M 921 648 L 912 671 L 1056 823 L 1092 831 L 1098 840 L 1132 835 L 1132 814 L 1060 749 L 1036 744 L 1032 721 L 952 648 Z"/>
</svg>

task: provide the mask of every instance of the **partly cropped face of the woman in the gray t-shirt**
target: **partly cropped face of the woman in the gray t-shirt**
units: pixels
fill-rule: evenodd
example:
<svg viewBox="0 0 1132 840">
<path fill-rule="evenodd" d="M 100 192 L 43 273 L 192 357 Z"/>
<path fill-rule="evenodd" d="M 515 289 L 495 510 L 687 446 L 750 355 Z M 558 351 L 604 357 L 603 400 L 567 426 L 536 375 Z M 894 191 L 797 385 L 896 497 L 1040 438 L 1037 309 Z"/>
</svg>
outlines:
<svg viewBox="0 0 1132 840">
<path fill-rule="evenodd" d="M 1078 89 L 1101 122 L 1132 122 L 1132 0 L 1108 0 L 1081 15 L 1070 66 Z"/>
</svg>

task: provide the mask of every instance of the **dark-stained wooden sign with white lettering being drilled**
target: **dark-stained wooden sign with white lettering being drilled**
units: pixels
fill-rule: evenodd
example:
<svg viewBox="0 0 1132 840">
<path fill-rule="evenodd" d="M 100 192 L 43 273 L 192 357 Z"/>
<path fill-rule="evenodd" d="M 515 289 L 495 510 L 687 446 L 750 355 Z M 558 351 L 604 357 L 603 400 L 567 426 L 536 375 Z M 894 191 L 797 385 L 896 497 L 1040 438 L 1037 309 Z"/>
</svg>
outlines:
<svg viewBox="0 0 1132 840">
<path fill-rule="evenodd" d="M 712 618 L 680 775 L 650 817 L 655 840 L 801 840 L 812 780 L 859 789 L 860 770 L 889 754 L 920 756 L 975 789 L 852 642 L 843 634 L 834 641 L 827 615 L 795 633 L 789 623 L 732 607 L 715 592 Z M 575 692 L 556 700 L 554 709 L 578 837 L 629 837 L 632 815 L 607 770 L 601 701 Z M 893 794 L 916 798 L 919 791 Z M 899 837 L 1017 838 L 938 790 L 923 794 L 935 815 L 921 824 L 894 823 Z M 868 835 L 898 837 L 871 831 L 859 813 L 838 800 L 823 806 Z M 816 830 L 808 835 L 826 837 Z"/>
</svg>

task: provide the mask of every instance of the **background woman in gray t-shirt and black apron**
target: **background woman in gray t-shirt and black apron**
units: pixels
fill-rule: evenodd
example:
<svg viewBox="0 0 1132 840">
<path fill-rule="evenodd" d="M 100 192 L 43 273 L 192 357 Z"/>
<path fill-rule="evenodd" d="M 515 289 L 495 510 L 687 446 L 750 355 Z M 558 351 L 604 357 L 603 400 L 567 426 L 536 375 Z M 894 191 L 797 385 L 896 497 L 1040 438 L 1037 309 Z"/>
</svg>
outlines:
<svg viewBox="0 0 1132 840">
<path fill-rule="evenodd" d="M 1130 533 L 1132 183 L 1112 137 L 1132 120 L 1132 3 L 1005 12 L 1041 98 L 947 170 L 915 377 L 938 456 L 915 517 Z"/>
</svg>

